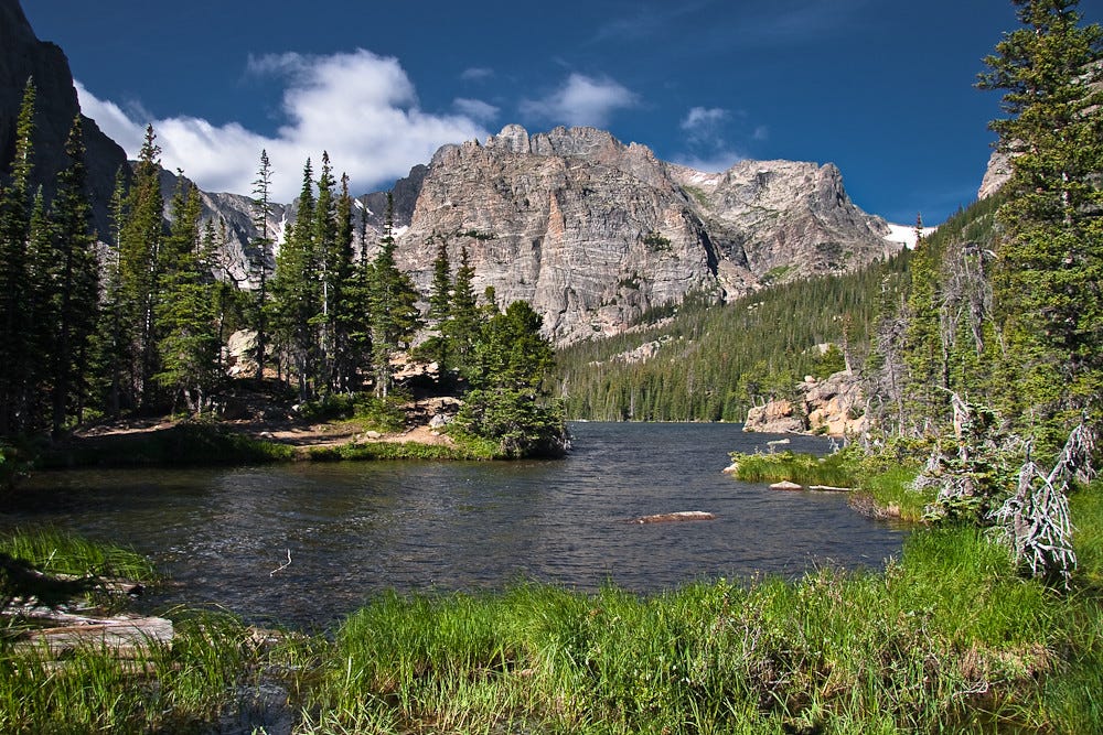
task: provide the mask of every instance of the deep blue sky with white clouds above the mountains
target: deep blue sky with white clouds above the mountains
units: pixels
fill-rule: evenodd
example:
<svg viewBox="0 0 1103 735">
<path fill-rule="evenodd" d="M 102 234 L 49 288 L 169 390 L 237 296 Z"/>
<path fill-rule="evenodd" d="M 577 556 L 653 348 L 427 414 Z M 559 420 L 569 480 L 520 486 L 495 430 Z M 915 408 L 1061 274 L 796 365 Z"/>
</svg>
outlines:
<svg viewBox="0 0 1103 735">
<path fill-rule="evenodd" d="M 1016 28 L 1005 0 L 264 3 L 23 0 L 82 106 L 133 155 L 278 198 L 326 150 L 354 193 L 504 125 L 606 128 L 667 161 L 834 162 L 867 212 L 938 224 L 976 194 L 998 95 L 973 88 Z M 1082 0 L 1090 22 L 1103 0 Z"/>
</svg>

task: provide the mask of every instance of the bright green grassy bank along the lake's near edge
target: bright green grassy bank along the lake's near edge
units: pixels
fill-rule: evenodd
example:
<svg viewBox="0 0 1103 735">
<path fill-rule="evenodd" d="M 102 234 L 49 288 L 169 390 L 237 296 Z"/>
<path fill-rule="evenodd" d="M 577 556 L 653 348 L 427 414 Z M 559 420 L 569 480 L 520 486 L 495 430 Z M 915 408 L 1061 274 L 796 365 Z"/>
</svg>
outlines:
<svg viewBox="0 0 1103 735">
<path fill-rule="evenodd" d="M 1074 498 L 1058 595 L 972 529 L 922 529 L 881 572 L 641 597 L 521 585 L 384 595 L 332 637 L 175 616 L 149 661 L 0 651 L 0 729 L 303 733 L 1095 732 L 1103 487 Z M 63 673 L 62 673 L 63 672 Z"/>
</svg>

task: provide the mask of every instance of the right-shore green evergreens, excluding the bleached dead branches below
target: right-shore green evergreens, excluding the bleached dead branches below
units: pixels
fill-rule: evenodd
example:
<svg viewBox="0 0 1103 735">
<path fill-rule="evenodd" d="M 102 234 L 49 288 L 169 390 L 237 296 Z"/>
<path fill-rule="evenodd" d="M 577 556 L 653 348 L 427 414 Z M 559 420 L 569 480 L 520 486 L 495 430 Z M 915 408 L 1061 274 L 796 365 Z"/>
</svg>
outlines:
<svg viewBox="0 0 1103 735">
<path fill-rule="evenodd" d="M 1103 32 L 1070 0 L 1015 4 L 978 84 L 1005 91 L 1011 177 L 920 242 L 878 352 L 898 433 L 936 434 L 956 394 L 1052 453 L 1103 409 Z"/>
</svg>

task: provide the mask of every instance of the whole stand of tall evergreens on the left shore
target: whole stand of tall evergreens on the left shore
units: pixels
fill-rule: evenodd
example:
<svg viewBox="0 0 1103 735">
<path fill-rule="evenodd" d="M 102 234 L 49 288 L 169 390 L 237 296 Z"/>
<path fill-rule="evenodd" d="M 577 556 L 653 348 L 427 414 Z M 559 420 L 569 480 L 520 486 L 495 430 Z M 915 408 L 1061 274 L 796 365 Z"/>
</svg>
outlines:
<svg viewBox="0 0 1103 735">
<path fill-rule="evenodd" d="M 362 226 L 357 248 L 347 176 L 339 181 L 323 152 L 317 179 L 309 160 L 303 167 L 298 216 L 277 250 L 261 152 L 255 288 L 243 291 L 223 262 L 225 227 L 203 219 L 183 172 L 165 207 L 152 127 L 132 170 L 119 172 L 113 231 L 103 237 L 90 226 L 79 119 L 53 201 L 29 191 L 34 101 L 29 83 L 0 188 L 0 436 L 57 434 L 98 417 L 211 412 L 227 388 L 224 348 L 235 328 L 256 333 L 255 388 L 286 383 L 300 401 L 390 393 L 395 358 L 411 350 L 426 320 L 395 262 L 389 197 L 383 236 L 372 246 Z M 467 251 L 454 255 L 453 279 L 441 249 L 429 298 L 436 353 L 418 354 L 438 363 L 442 389 L 471 390 L 461 431 L 499 441 L 508 455 L 561 451 L 539 317 L 523 303 L 500 311 L 492 293 L 480 305 Z"/>
</svg>

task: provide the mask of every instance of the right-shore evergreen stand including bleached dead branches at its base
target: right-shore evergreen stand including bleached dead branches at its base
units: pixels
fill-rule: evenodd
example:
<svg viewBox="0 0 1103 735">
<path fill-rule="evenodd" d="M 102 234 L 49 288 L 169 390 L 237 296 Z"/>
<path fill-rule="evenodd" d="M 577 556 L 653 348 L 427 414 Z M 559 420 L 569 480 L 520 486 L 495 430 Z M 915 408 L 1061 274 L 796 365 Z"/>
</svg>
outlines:
<svg viewBox="0 0 1103 735">
<path fill-rule="evenodd" d="M 1030 573 L 1068 584 L 1068 494 L 1103 421 L 1103 29 L 1074 0 L 1013 0 L 985 58 L 1011 176 L 920 242 L 876 339 L 887 437 L 927 453 L 931 520 L 996 526 Z"/>
</svg>

